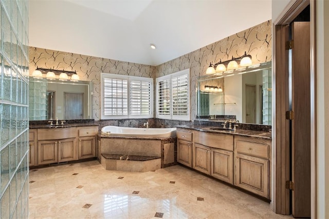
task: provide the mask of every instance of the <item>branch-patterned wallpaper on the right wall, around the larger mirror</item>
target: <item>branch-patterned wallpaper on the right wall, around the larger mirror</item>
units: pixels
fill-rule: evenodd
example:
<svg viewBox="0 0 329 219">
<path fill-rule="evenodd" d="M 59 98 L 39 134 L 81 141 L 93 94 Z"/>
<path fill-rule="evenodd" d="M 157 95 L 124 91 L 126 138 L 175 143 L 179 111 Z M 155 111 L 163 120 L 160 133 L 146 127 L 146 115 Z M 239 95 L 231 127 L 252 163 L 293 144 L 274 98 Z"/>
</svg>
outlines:
<svg viewBox="0 0 329 219">
<path fill-rule="evenodd" d="M 199 76 L 206 74 L 206 69 L 211 63 L 222 59 L 225 62 L 233 57 L 242 56 L 245 51 L 252 56 L 252 63 L 259 64 L 272 59 L 272 23 L 264 22 L 247 30 L 241 31 L 213 44 L 182 55 L 167 63 L 157 66 L 156 77 L 171 74 L 190 68 L 190 95 L 191 95 L 191 120 L 196 115 L 196 87 Z M 224 81 L 222 82 L 224 84 Z M 217 83 L 224 87 L 222 83 Z"/>
</svg>

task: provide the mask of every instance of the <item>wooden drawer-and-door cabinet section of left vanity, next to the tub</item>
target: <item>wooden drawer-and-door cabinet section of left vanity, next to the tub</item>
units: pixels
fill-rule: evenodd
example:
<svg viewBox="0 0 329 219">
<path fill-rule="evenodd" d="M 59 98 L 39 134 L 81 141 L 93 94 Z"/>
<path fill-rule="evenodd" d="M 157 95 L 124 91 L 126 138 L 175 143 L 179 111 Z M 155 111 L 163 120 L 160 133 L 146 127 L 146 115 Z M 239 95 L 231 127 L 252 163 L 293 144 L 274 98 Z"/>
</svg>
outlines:
<svg viewBox="0 0 329 219">
<path fill-rule="evenodd" d="M 78 128 L 78 158 L 96 157 L 97 126 Z"/>
</svg>

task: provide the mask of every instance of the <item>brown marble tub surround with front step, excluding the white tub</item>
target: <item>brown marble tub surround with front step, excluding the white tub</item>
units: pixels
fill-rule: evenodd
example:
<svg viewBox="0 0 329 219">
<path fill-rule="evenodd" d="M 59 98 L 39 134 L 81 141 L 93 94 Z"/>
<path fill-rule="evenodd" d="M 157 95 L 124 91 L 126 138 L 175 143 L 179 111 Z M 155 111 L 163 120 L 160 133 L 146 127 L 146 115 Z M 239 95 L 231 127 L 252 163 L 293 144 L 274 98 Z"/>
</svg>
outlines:
<svg viewBox="0 0 329 219">
<path fill-rule="evenodd" d="M 154 171 L 177 164 L 176 137 L 123 137 L 102 136 L 98 134 L 98 159 L 107 170 L 122 171 Z M 106 154 L 106 155 L 105 155 Z M 106 156 L 135 155 L 136 160 L 117 160 Z M 152 160 L 141 161 L 141 156 L 157 157 Z"/>
</svg>

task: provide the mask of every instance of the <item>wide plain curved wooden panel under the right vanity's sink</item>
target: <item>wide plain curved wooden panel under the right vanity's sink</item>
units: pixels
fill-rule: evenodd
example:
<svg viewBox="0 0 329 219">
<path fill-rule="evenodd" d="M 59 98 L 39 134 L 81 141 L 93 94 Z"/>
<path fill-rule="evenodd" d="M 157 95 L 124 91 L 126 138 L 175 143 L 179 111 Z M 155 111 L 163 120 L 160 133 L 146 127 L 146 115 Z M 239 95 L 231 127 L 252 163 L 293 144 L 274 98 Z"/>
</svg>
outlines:
<svg viewBox="0 0 329 219">
<path fill-rule="evenodd" d="M 233 151 L 233 135 L 195 132 L 194 142 L 212 148 Z"/>
</svg>

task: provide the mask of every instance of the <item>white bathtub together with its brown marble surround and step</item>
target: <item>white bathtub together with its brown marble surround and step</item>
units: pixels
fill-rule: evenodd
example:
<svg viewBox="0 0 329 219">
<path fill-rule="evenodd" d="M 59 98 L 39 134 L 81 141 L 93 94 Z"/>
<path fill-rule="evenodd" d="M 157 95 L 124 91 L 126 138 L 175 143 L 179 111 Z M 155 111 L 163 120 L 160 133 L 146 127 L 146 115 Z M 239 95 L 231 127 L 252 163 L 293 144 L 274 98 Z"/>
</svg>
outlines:
<svg viewBox="0 0 329 219">
<path fill-rule="evenodd" d="M 176 128 L 105 126 L 101 131 L 98 135 L 97 157 L 107 170 L 143 172 L 177 164 Z M 131 157 L 144 156 L 157 158 L 151 161 L 129 161 Z M 111 157 L 120 159 L 112 160 Z"/>
</svg>

